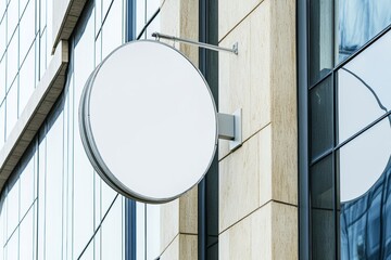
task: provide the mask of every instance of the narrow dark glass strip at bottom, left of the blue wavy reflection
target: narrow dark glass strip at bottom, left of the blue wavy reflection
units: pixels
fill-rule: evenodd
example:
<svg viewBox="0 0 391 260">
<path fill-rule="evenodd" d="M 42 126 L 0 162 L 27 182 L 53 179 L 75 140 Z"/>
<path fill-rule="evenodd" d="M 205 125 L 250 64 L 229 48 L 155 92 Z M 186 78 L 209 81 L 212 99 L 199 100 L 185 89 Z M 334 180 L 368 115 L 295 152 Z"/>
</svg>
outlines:
<svg viewBox="0 0 391 260">
<path fill-rule="evenodd" d="M 314 259 L 335 253 L 332 155 L 311 167 L 311 221 Z"/>
</svg>

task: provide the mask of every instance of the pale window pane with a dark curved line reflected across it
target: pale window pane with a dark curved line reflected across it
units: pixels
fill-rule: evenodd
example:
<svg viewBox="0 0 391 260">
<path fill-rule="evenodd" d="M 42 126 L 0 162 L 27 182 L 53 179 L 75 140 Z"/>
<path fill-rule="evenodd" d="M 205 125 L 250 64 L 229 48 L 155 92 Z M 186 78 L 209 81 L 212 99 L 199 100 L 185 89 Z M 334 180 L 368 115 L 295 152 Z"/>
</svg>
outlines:
<svg viewBox="0 0 391 260">
<path fill-rule="evenodd" d="M 338 141 L 391 109 L 391 31 L 338 70 Z"/>
</svg>

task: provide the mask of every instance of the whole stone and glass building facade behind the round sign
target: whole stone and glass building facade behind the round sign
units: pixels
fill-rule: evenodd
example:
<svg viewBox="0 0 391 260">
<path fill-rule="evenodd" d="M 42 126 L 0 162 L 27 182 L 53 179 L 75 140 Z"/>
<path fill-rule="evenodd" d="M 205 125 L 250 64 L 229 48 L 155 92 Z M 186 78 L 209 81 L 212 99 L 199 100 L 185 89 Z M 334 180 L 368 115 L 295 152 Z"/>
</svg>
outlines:
<svg viewBox="0 0 391 260">
<path fill-rule="evenodd" d="M 390 6 L 0 0 L 0 259 L 389 259 Z M 238 42 L 162 40 L 218 112 L 242 109 L 242 145 L 219 140 L 205 178 L 163 205 L 106 185 L 78 121 L 92 70 L 154 31 Z"/>
</svg>

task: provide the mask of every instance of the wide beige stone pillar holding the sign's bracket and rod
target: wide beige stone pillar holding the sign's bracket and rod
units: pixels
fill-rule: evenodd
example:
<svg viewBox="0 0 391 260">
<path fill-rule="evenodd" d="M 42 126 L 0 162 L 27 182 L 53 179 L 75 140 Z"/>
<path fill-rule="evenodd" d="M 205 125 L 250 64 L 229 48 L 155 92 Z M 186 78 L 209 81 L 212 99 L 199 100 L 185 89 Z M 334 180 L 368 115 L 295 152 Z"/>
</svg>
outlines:
<svg viewBox="0 0 391 260">
<path fill-rule="evenodd" d="M 219 258 L 298 258 L 294 0 L 220 0 L 219 112 L 242 108 L 243 145 L 219 141 Z"/>
</svg>

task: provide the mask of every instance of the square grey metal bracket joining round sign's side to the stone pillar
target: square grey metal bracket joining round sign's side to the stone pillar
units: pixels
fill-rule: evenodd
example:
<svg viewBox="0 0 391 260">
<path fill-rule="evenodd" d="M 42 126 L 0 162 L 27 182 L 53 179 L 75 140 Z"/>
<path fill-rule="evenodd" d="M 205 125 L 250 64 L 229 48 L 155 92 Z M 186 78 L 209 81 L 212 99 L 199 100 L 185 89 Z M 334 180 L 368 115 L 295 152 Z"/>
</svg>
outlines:
<svg viewBox="0 0 391 260">
<path fill-rule="evenodd" d="M 242 144 L 241 108 L 232 115 L 218 113 L 218 139 L 229 140 L 229 150 L 234 151 Z"/>
</svg>

